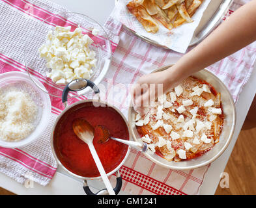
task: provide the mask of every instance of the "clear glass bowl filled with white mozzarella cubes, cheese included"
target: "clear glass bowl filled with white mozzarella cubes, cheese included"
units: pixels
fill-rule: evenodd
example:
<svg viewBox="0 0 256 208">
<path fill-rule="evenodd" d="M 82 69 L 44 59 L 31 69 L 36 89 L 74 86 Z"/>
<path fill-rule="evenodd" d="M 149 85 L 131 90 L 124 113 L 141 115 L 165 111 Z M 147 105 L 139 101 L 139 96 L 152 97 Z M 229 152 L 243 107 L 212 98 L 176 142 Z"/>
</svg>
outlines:
<svg viewBox="0 0 256 208">
<path fill-rule="evenodd" d="M 45 22 L 52 24 L 41 27 Z M 94 19 L 79 13 L 63 12 L 29 25 L 28 31 L 24 62 L 36 86 L 35 74 L 40 74 L 43 81 L 52 82 L 51 86 L 59 85 L 59 90 L 74 79 L 89 79 L 95 85 L 104 79 L 111 62 L 112 46 L 107 32 Z M 72 71 L 65 72 L 65 68 Z M 43 91 L 61 98 L 59 90 L 46 88 Z M 68 97 L 76 98 L 89 90 L 91 88 L 72 92 Z"/>
</svg>

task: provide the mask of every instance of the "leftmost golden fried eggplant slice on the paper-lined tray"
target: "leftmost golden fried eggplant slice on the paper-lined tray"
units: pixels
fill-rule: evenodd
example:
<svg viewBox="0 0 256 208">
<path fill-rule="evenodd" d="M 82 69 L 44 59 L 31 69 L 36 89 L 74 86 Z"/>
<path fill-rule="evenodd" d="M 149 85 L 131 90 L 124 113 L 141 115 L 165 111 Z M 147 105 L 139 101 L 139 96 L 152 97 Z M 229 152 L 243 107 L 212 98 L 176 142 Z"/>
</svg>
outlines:
<svg viewBox="0 0 256 208">
<path fill-rule="evenodd" d="M 158 23 L 153 18 L 151 18 L 143 6 L 135 6 L 134 1 L 130 1 L 126 6 L 128 10 L 134 14 L 137 20 L 143 25 L 147 32 L 158 32 Z"/>
</svg>

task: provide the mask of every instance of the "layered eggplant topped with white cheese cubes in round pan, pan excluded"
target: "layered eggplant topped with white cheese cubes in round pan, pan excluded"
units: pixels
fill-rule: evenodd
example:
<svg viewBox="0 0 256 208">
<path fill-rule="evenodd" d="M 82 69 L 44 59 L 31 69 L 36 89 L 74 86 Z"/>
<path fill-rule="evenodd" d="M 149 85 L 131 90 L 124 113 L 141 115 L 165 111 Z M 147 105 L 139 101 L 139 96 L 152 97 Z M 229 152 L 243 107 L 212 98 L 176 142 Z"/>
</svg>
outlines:
<svg viewBox="0 0 256 208">
<path fill-rule="evenodd" d="M 141 140 L 167 161 L 193 159 L 212 149 L 223 120 L 220 93 L 196 77 L 159 96 L 146 115 L 134 118 Z"/>
</svg>

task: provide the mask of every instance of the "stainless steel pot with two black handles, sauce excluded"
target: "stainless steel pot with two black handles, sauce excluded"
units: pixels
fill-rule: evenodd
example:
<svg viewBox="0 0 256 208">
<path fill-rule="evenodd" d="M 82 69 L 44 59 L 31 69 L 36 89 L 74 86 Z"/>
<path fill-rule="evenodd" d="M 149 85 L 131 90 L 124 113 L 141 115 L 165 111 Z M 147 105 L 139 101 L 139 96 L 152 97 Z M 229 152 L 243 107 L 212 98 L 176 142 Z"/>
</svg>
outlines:
<svg viewBox="0 0 256 208">
<path fill-rule="evenodd" d="M 57 154 L 55 152 L 55 146 L 54 146 L 54 143 L 53 143 L 53 139 L 54 139 L 54 131 L 57 127 L 57 123 L 59 122 L 59 120 L 63 117 L 63 115 L 70 109 L 73 109 L 74 107 L 78 106 L 78 105 L 83 105 L 83 103 L 94 103 L 98 106 L 108 106 L 108 107 L 111 107 L 113 108 L 116 112 L 118 112 L 121 117 L 123 118 L 124 122 L 126 123 L 126 126 L 128 128 L 128 133 L 129 133 L 129 136 L 131 135 L 130 134 L 130 128 L 128 127 L 128 122 L 126 120 L 126 118 L 124 117 L 124 115 L 122 114 L 122 112 L 117 109 L 116 107 L 113 107 L 111 105 L 108 105 L 107 102 L 104 102 L 104 101 L 100 101 L 100 96 L 98 96 L 98 99 L 86 99 L 86 100 L 82 100 L 82 101 L 78 101 L 76 103 L 73 103 L 72 105 L 69 105 L 68 106 L 68 103 L 67 103 L 67 100 L 68 100 L 68 92 L 70 91 L 79 91 L 79 90 L 84 90 L 87 86 L 90 86 L 92 88 L 92 90 L 94 90 L 94 93 L 95 94 L 99 94 L 100 93 L 100 90 L 98 89 L 98 87 L 92 83 L 91 81 L 87 80 L 87 79 L 76 79 L 74 81 L 72 81 L 71 83 L 69 83 L 68 85 L 66 85 L 66 87 L 64 88 L 63 90 L 63 96 L 62 96 L 62 101 L 64 103 L 64 106 L 65 106 L 65 109 L 61 112 L 61 114 L 59 114 L 59 116 L 57 117 L 56 121 L 55 121 L 55 124 L 53 125 L 53 130 L 51 132 L 51 151 L 53 152 L 53 156 L 55 157 L 56 161 L 58 162 L 59 166 L 61 166 L 66 172 L 68 172 L 68 174 L 74 176 L 74 177 L 77 177 L 78 179 L 83 179 L 83 189 L 85 190 L 85 193 L 87 195 L 107 195 L 108 192 L 107 192 L 107 189 L 104 188 L 102 190 L 100 190 L 99 192 L 97 193 L 93 193 L 89 186 L 88 186 L 88 183 L 87 183 L 87 180 L 94 180 L 94 179 L 101 179 L 100 176 L 98 177 L 83 177 L 81 175 L 77 175 L 77 174 L 74 174 L 73 172 L 71 172 L 70 170 L 68 170 L 62 163 L 61 161 L 59 160 L 59 158 L 57 157 Z M 128 146 L 128 149 L 127 149 L 127 152 L 126 152 L 126 155 L 124 157 L 124 159 L 122 159 L 121 163 L 114 169 L 114 170 L 111 170 L 111 172 L 108 172 L 106 173 L 107 176 L 111 175 L 111 174 L 114 174 L 116 173 L 116 176 L 117 176 L 117 185 L 114 189 L 115 191 L 115 194 L 118 194 L 121 190 L 121 187 L 122 187 L 122 177 L 119 173 L 119 168 L 121 168 L 122 164 L 124 164 L 124 162 L 126 161 L 128 155 L 130 153 L 130 146 Z"/>
</svg>

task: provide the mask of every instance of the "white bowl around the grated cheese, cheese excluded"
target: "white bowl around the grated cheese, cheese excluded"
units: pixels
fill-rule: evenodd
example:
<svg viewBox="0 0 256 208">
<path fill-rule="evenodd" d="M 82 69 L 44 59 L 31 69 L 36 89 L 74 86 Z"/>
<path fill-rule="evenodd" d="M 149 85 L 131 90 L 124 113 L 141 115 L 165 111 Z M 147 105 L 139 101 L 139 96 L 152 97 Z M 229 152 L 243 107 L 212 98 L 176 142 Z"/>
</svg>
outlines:
<svg viewBox="0 0 256 208">
<path fill-rule="evenodd" d="M 38 86 L 40 86 L 41 88 L 44 88 L 44 85 L 42 85 L 40 81 L 37 81 L 36 79 L 35 81 L 37 82 L 36 84 Z M 35 141 L 37 138 L 39 138 L 42 135 L 42 133 L 44 133 L 50 120 L 50 116 L 51 116 L 50 96 L 44 93 L 39 88 L 37 88 L 35 84 L 31 81 L 27 73 L 7 72 L 7 73 L 0 74 L 0 88 L 3 90 L 5 89 L 5 87 L 8 87 L 8 86 L 18 87 L 18 86 L 24 86 L 24 85 L 29 86 L 28 92 L 31 92 L 31 90 L 33 90 L 33 92 L 35 92 L 36 94 L 36 98 L 33 98 L 35 103 L 38 105 L 38 116 L 35 122 L 36 127 L 29 136 L 27 136 L 26 138 L 23 138 L 22 140 L 18 140 L 17 142 L 8 142 L 5 140 L 1 140 L 0 138 L 0 146 L 5 148 L 18 148 Z M 39 96 L 39 98 L 37 96 Z"/>
</svg>

